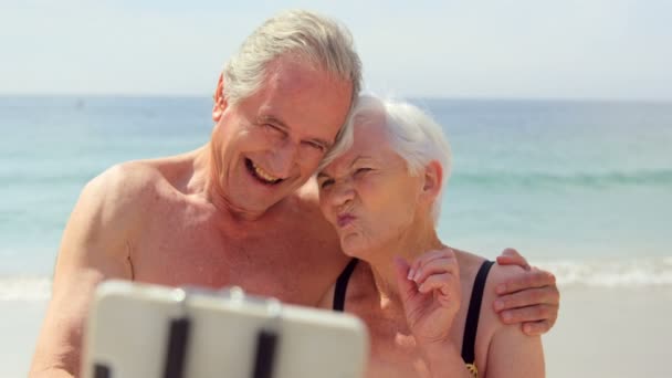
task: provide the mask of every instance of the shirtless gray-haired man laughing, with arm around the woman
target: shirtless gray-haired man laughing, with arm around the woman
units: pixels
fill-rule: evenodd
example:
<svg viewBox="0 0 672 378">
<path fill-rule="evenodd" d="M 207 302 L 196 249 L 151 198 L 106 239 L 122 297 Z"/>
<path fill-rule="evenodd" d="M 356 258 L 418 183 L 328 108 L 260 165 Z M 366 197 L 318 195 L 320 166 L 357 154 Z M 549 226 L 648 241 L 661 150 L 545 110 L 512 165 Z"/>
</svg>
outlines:
<svg viewBox="0 0 672 378">
<path fill-rule="evenodd" d="M 207 145 L 118 165 L 82 191 L 31 376 L 77 375 L 88 304 L 107 279 L 234 284 L 316 305 L 347 258 L 311 177 L 338 140 L 360 76 L 349 33 L 330 20 L 287 12 L 254 31 L 220 76 Z M 557 316 L 553 276 L 518 282 L 500 298 L 513 309 L 507 322 L 546 332 Z"/>
</svg>

